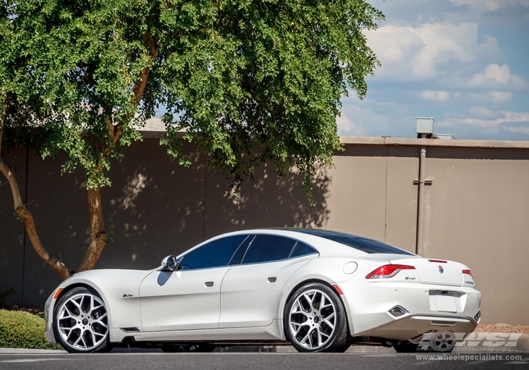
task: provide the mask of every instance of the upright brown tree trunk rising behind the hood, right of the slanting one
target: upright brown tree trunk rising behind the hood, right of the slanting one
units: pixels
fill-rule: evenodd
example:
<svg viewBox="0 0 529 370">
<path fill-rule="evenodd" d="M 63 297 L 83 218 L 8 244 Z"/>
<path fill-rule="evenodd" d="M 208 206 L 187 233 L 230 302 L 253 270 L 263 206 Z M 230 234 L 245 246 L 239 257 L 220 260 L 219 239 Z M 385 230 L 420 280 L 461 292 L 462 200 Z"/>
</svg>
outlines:
<svg viewBox="0 0 529 370">
<path fill-rule="evenodd" d="M 93 269 L 107 242 L 100 187 L 87 190 L 87 205 L 88 214 L 90 215 L 90 245 L 85 250 L 83 259 L 81 259 L 77 270 L 75 270 L 76 273 Z"/>
</svg>

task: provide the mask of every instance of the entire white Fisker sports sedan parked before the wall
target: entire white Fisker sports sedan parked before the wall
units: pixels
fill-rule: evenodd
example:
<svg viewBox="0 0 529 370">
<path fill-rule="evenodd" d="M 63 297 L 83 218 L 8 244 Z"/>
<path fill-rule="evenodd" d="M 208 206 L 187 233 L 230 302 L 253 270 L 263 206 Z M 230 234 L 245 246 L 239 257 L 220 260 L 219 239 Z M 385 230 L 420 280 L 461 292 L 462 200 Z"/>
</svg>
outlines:
<svg viewBox="0 0 529 370">
<path fill-rule="evenodd" d="M 45 306 L 47 340 L 68 352 L 116 346 L 212 351 L 351 344 L 450 351 L 480 321 L 467 266 L 345 233 L 245 230 L 149 271 L 104 269 L 63 281 Z"/>
</svg>

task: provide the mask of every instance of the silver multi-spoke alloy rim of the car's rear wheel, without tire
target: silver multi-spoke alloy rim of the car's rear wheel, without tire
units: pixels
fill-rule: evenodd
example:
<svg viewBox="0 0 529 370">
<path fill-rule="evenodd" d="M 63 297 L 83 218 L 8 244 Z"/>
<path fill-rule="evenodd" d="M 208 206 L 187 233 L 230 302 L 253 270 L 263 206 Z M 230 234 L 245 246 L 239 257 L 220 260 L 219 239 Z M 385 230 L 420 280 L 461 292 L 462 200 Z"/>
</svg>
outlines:
<svg viewBox="0 0 529 370">
<path fill-rule="evenodd" d="M 336 328 L 336 307 L 322 290 L 310 289 L 299 297 L 288 314 L 293 340 L 310 350 L 326 345 Z"/>
</svg>

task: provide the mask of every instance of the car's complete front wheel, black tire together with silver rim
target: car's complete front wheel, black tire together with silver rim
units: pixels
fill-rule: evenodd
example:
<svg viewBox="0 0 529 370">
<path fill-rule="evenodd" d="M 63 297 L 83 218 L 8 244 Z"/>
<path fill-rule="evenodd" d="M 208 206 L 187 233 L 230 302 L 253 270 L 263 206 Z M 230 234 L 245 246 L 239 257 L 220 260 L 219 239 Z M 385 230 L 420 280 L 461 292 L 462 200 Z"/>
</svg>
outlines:
<svg viewBox="0 0 529 370">
<path fill-rule="evenodd" d="M 73 288 L 55 304 L 54 334 L 57 343 L 72 353 L 107 352 L 109 317 L 99 295 L 87 288 Z"/>
</svg>

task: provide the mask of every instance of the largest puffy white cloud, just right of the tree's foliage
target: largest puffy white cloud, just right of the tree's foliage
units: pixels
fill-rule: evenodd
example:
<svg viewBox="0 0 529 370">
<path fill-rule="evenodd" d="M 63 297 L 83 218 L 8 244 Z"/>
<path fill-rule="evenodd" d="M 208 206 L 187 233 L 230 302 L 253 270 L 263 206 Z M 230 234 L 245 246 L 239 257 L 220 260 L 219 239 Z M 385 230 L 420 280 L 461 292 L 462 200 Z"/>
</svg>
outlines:
<svg viewBox="0 0 529 370">
<path fill-rule="evenodd" d="M 472 63 L 480 56 L 502 55 L 494 37 L 478 42 L 475 23 L 387 25 L 366 35 L 368 45 L 382 62 L 375 76 L 383 80 L 432 80 L 453 74 L 454 61 Z"/>
</svg>

